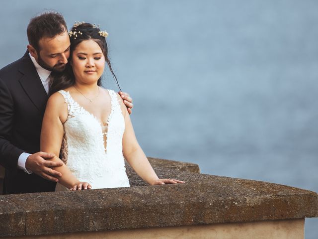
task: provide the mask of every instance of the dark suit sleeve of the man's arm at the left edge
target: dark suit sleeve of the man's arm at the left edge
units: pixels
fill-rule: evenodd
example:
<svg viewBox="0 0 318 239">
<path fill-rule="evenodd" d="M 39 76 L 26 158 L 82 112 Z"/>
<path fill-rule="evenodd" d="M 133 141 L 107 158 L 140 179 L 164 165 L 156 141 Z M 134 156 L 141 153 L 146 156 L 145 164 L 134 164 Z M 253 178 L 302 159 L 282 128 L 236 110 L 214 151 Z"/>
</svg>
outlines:
<svg viewBox="0 0 318 239">
<path fill-rule="evenodd" d="M 14 103 L 10 91 L 0 78 L 0 164 L 15 170 L 17 161 L 24 150 L 11 143 L 11 132 L 14 122 Z"/>
</svg>

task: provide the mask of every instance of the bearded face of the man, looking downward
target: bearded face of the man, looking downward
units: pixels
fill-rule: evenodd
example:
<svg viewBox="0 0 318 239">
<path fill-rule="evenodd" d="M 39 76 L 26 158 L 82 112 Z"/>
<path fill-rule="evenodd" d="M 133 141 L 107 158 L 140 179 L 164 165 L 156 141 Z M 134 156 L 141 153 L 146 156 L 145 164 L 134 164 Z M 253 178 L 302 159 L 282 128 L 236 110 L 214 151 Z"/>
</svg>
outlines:
<svg viewBox="0 0 318 239">
<path fill-rule="evenodd" d="M 55 72 L 64 71 L 70 57 L 70 37 L 67 31 L 53 38 L 39 40 L 39 50 L 31 55 L 44 69 Z"/>
</svg>

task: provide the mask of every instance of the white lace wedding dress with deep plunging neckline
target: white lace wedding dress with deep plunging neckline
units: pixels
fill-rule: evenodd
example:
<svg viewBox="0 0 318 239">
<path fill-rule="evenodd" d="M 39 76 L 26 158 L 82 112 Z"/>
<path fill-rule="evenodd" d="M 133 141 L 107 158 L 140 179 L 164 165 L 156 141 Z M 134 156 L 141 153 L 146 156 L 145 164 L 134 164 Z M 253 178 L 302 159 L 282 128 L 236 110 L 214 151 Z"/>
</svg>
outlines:
<svg viewBox="0 0 318 239">
<path fill-rule="evenodd" d="M 79 181 L 90 183 L 92 189 L 129 187 L 122 152 L 125 121 L 116 93 L 108 90 L 111 113 L 105 126 L 74 101 L 69 92 L 59 93 L 68 105 L 61 159 Z M 56 191 L 64 190 L 68 189 L 57 183 Z"/>
</svg>

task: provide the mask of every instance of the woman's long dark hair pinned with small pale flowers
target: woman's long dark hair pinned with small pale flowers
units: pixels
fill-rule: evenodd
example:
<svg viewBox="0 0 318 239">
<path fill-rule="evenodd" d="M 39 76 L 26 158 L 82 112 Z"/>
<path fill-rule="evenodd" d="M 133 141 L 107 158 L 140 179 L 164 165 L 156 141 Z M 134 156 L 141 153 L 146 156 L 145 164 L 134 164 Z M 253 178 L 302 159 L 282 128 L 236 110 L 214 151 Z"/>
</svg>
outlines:
<svg viewBox="0 0 318 239">
<path fill-rule="evenodd" d="M 52 80 L 50 83 L 50 95 L 52 95 L 55 92 L 58 92 L 59 90 L 63 90 L 74 85 L 75 77 L 70 62 L 72 61 L 72 53 L 74 49 L 80 42 L 84 40 L 93 40 L 99 45 L 100 49 L 104 54 L 105 62 L 107 63 L 109 70 L 113 75 L 113 78 L 116 81 L 119 90 L 121 90 L 117 81 L 117 77 L 115 76 L 113 69 L 111 68 L 111 64 L 108 58 L 108 47 L 106 38 L 105 36 L 103 36 L 103 32 L 101 32 L 99 27 L 96 27 L 95 25 L 92 25 L 90 23 L 81 23 L 78 25 L 74 25 L 70 33 L 71 32 L 76 33 L 70 37 L 71 47 L 69 62 L 62 73 L 52 72 Z M 98 79 L 97 85 L 101 86 L 101 78 Z"/>
</svg>

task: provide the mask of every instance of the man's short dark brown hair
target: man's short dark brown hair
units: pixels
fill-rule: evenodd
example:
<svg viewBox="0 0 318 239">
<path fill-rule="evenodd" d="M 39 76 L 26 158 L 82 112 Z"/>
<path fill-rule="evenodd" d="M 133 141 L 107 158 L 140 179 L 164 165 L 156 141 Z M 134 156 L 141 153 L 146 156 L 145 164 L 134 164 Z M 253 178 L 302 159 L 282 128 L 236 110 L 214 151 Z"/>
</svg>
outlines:
<svg viewBox="0 0 318 239">
<path fill-rule="evenodd" d="M 39 40 L 42 37 L 54 37 L 67 31 L 65 19 L 56 11 L 43 12 L 31 18 L 27 27 L 27 36 L 30 45 L 39 51 Z"/>
</svg>

